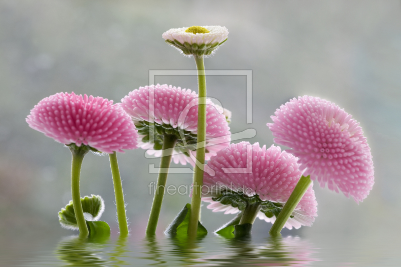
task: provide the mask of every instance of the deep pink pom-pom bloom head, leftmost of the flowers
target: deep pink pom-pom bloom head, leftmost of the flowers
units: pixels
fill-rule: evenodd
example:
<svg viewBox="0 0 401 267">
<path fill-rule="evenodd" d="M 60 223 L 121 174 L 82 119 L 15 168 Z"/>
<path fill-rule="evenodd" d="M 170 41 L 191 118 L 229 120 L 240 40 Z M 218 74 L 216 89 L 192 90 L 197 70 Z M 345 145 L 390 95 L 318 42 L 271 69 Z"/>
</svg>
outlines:
<svg viewBox="0 0 401 267">
<path fill-rule="evenodd" d="M 42 99 L 28 115 L 29 126 L 57 142 L 82 144 L 99 152 L 137 147 L 137 130 L 127 113 L 101 97 L 57 93 Z"/>
</svg>

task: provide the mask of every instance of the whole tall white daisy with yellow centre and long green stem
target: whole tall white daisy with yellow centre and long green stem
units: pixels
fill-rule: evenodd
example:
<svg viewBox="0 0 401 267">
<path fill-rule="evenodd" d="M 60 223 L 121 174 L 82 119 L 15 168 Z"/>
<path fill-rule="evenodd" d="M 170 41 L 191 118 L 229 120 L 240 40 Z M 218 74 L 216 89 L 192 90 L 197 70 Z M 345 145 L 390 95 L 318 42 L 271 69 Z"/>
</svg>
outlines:
<svg viewBox="0 0 401 267">
<path fill-rule="evenodd" d="M 200 211 L 200 188 L 203 185 L 205 165 L 205 138 L 206 138 L 206 77 L 204 56 L 211 55 L 216 49 L 226 42 L 228 37 L 226 27 L 220 26 L 192 26 L 189 28 L 170 29 L 163 33 L 165 42 L 184 55 L 192 55 L 195 59 L 198 80 L 198 130 L 196 147 L 196 166 L 193 175 L 193 188 L 195 188 L 191 200 L 191 213 L 188 224 L 188 235 L 196 236 Z M 197 190 L 196 190 L 197 189 Z"/>
</svg>

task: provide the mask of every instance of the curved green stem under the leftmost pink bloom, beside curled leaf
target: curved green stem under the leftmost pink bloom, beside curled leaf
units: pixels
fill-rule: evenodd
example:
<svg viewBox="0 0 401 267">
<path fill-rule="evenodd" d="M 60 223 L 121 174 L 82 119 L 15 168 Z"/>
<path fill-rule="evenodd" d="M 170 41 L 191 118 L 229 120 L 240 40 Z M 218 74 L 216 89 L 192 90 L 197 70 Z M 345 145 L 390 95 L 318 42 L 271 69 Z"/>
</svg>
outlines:
<svg viewBox="0 0 401 267">
<path fill-rule="evenodd" d="M 88 236 L 89 230 L 86 225 L 84 211 L 82 210 L 81 194 L 79 189 L 79 179 L 81 176 L 81 166 L 84 156 L 88 153 L 88 149 L 81 146 L 81 148 L 70 148 L 72 153 L 71 164 L 71 194 L 74 207 L 75 218 L 77 220 L 80 236 Z"/>
</svg>

